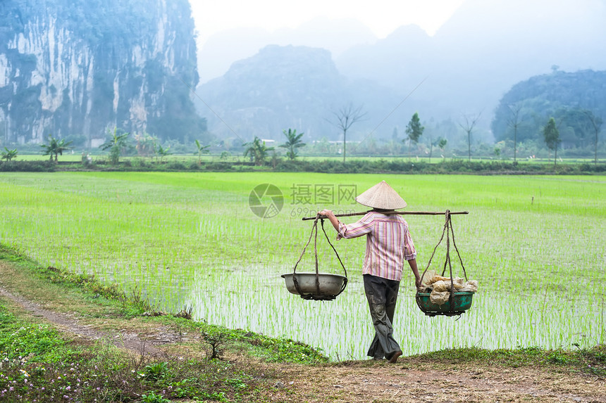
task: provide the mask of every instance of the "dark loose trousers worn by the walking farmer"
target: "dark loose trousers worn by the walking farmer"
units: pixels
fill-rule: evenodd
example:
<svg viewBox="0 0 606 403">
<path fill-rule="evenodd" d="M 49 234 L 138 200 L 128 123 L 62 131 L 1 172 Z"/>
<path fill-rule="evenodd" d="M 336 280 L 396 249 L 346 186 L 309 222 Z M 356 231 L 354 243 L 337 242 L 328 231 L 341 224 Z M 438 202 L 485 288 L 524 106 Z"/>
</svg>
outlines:
<svg viewBox="0 0 606 403">
<path fill-rule="evenodd" d="M 375 338 L 369 352 L 366 353 L 370 357 L 390 359 L 395 352 L 401 351 L 400 345 L 392 337 L 393 313 L 398 288 L 400 281 L 364 274 L 364 292 L 369 300 L 371 318 L 375 326 Z"/>
</svg>

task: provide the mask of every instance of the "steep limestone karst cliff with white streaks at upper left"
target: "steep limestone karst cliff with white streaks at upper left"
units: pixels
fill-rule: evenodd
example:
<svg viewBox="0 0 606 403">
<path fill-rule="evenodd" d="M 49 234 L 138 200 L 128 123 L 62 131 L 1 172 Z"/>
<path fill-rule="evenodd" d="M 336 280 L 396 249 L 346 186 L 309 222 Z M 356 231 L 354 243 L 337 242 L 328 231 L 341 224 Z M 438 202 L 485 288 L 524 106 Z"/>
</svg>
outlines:
<svg viewBox="0 0 606 403">
<path fill-rule="evenodd" d="M 106 130 L 204 131 L 187 0 L 0 2 L 0 139 L 98 146 Z"/>
</svg>

